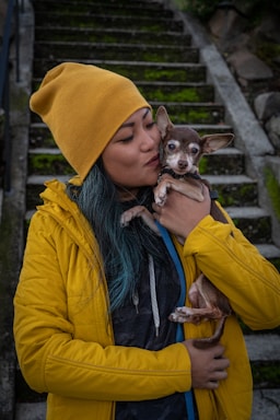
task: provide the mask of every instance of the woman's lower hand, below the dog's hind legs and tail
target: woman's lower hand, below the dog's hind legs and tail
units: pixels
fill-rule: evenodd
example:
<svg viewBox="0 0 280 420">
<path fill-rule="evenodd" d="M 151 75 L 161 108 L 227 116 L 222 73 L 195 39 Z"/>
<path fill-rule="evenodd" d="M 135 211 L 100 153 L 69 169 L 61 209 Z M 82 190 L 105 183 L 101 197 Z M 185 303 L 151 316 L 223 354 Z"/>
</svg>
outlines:
<svg viewBox="0 0 280 420">
<path fill-rule="evenodd" d="M 191 362 L 191 383 L 194 388 L 215 389 L 219 382 L 228 377 L 229 359 L 223 357 L 224 348 L 221 345 L 210 349 L 197 349 L 192 340 L 183 341 L 187 348 Z"/>
</svg>

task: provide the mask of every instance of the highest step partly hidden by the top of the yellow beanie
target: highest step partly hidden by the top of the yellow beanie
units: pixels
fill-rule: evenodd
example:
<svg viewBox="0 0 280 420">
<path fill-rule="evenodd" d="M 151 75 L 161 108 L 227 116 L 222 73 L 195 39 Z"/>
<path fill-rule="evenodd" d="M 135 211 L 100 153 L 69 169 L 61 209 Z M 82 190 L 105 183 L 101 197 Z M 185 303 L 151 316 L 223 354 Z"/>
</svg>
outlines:
<svg viewBox="0 0 280 420">
<path fill-rule="evenodd" d="M 95 65 L 104 69 L 115 71 L 116 73 L 122 74 L 130 78 L 133 81 L 161 81 L 161 82 L 205 82 L 206 81 L 206 68 L 201 63 L 166 63 L 166 62 L 147 62 L 140 60 L 97 60 L 97 59 L 79 59 L 70 60 L 63 59 L 65 61 L 79 61 L 84 65 Z M 33 60 L 33 75 L 34 78 L 40 79 L 45 73 L 52 67 L 61 62 L 61 58 L 49 58 L 43 57 Z"/>
</svg>

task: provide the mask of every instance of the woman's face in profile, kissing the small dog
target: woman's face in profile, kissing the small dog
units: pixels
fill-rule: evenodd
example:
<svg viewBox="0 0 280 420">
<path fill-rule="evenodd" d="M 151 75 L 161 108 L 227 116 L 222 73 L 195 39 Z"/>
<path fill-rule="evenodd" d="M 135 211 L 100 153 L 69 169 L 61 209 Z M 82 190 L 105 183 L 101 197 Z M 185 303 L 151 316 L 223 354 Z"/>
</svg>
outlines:
<svg viewBox="0 0 280 420">
<path fill-rule="evenodd" d="M 132 114 L 115 133 L 102 158 L 112 180 L 131 192 L 156 184 L 160 171 L 160 132 L 151 110 Z"/>
</svg>

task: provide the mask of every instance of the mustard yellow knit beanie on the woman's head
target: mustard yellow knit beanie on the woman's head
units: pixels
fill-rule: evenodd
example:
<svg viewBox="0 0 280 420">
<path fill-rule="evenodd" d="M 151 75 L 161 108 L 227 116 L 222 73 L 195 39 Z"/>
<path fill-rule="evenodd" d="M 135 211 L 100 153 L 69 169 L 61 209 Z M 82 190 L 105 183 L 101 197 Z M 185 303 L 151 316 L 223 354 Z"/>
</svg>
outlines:
<svg viewBox="0 0 280 420">
<path fill-rule="evenodd" d="M 127 78 L 95 66 L 63 62 L 47 72 L 31 109 L 82 179 L 121 124 L 150 105 Z"/>
</svg>

